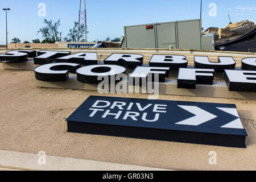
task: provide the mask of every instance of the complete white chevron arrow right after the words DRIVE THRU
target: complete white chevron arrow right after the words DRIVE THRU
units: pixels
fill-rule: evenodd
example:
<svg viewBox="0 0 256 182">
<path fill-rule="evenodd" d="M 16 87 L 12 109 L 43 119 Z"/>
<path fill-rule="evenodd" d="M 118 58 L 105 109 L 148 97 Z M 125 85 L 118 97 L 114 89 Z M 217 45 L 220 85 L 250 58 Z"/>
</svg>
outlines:
<svg viewBox="0 0 256 182">
<path fill-rule="evenodd" d="M 214 118 L 217 118 L 216 115 L 208 113 L 207 111 L 200 109 L 197 106 L 181 106 L 181 105 L 178 105 L 178 106 L 181 107 L 182 109 L 189 111 L 189 113 L 195 114 L 195 116 L 175 123 L 177 125 L 198 126 L 198 125 L 201 125 L 202 123 L 205 123 Z"/>
</svg>

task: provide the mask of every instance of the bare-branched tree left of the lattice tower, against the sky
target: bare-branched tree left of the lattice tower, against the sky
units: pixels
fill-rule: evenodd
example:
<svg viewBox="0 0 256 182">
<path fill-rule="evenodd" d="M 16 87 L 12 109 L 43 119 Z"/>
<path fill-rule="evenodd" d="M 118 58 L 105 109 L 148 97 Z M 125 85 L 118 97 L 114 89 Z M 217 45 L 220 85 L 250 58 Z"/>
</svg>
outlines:
<svg viewBox="0 0 256 182">
<path fill-rule="evenodd" d="M 57 22 L 44 19 L 44 24 L 46 24 L 46 26 L 40 28 L 38 33 L 40 32 L 43 38 L 48 42 L 61 42 L 62 32 L 58 31 L 58 28 L 60 26 L 60 19 L 57 20 Z"/>
</svg>

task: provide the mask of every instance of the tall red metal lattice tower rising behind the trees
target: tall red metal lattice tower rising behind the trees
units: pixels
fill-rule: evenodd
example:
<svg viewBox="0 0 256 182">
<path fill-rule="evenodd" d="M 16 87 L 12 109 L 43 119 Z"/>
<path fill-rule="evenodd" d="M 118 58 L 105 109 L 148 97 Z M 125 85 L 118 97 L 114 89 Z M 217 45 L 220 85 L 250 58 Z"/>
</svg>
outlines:
<svg viewBox="0 0 256 182">
<path fill-rule="evenodd" d="M 86 0 L 80 0 L 79 7 L 79 31 L 80 28 L 84 25 L 85 27 L 85 42 L 87 42 L 87 22 L 86 22 Z M 78 33 L 79 35 L 79 33 Z M 78 38 L 79 41 L 79 38 Z"/>
</svg>

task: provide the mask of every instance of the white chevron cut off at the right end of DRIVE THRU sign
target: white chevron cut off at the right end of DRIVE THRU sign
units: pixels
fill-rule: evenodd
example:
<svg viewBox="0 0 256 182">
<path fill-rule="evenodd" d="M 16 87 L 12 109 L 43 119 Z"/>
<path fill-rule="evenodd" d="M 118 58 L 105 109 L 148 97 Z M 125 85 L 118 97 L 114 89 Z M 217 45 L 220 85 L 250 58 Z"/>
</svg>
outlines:
<svg viewBox="0 0 256 182">
<path fill-rule="evenodd" d="M 239 118 L 236 108 L 217 107 L 217 109 L 220 109 L 226 113 L 229 113 L 229 114 L 232 114 L 232 115 L 238 117 L 234 121 L 229 122 L 228 124 L 223 125 L 221 127 L 225 127 L 225 128 L 229 128 L 229 129 L 243 129 L 243 125 L 241 123 L 241 120 Z"/>
</svg>

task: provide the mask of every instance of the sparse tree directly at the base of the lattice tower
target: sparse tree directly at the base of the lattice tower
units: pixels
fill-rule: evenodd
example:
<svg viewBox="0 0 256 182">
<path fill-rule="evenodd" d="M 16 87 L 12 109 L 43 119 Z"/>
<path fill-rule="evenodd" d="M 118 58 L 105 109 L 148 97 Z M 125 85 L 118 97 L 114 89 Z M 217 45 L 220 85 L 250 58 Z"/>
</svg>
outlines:
<svg viewBox="0 0 256 182">
<path fill-rule="evenodd" d="M 88 32 L 86 32 L 88 34 Z M 65 42 L 85 42 L 85 26 L 79 28 L 79 23 L 74 22 L 74 27 L 69 29 L 67 37 L 64 38 Z"/>
</svg>

